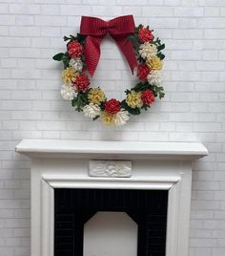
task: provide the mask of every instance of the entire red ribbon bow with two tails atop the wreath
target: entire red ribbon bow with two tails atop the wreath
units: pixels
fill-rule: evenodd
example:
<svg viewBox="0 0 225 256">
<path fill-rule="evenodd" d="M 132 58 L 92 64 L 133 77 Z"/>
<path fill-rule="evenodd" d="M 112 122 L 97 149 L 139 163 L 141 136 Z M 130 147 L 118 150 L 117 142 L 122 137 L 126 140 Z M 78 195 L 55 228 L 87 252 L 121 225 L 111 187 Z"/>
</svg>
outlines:
<svg viewBox="0 0 225 256">
<path fill-rule="evenodd" d="M 86 69 L 93 75 L 100 58 L 100 44 L 102 39 L 109 32 L 116 44 L 127 58 L 132 73 L 137 65 L 136 56 L 133 51 L 129 34 L 134 32 L 133 15 L 126 15 L 114 18 L 110 21 L 104 21 L 99 18 L 82 16 L 80 24 L 80 33 L 88 35 L 85 43 Z"/>
</svg>

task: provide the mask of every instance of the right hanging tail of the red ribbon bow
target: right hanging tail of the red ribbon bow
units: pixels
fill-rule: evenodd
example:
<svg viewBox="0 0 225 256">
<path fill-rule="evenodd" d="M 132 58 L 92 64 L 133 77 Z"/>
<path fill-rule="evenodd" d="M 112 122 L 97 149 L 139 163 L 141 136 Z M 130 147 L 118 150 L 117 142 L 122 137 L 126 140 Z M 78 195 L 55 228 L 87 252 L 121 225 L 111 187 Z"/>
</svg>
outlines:
<svg viewBox="0 0 225 256">
<path fill-rule="evenodd" d="M 127 37 L 124 37 L 124 35 L 113 36 L 113 39 L 122 51 L 122 53 L 125 55 L 133 73 L 134 68 L 137 66 L 137 59 L 131 41 Z"/>
</svg>

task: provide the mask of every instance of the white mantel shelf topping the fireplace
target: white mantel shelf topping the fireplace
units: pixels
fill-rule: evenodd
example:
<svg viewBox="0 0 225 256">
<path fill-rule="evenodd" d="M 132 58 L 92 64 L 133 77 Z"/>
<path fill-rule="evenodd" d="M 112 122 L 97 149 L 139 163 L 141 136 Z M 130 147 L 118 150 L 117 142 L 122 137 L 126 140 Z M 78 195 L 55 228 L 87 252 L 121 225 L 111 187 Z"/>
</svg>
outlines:
<svg viewBox="0 0 225 256">
<path fill-rule="evenodd" d="M 188 159 L 207 156 L 197 142 L 95 141 L 62 139 L 23 139 L 16 152 L 31 158 Z"/>
</svg>

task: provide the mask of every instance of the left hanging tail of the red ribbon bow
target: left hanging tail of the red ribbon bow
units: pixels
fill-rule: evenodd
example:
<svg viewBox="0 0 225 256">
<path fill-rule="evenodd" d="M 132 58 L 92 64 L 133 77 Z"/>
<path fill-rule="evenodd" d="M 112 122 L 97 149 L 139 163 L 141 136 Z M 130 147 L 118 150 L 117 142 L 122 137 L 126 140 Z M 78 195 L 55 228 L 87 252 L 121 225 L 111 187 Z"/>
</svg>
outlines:
<svg viewBox="0 0 225 256">
<path fill-rule="evenodd" d="M 88 35 L 85 42 L 85 69 L 90 75 L 94 74 L 100 58 L 100 44 L 102 41 L 102 36 L 92 36 Z"/>
</svg>

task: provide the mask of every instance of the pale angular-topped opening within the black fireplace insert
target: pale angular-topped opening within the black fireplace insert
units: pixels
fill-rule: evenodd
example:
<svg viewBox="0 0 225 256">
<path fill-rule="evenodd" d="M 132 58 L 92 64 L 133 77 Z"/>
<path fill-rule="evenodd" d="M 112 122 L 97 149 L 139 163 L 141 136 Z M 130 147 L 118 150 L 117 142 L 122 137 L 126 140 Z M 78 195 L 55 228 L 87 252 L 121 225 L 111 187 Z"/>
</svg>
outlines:
<svg viewBox="0 0 225 256">
<path fill-rule="evenodd" d="M 97 212 L 84 225 L 84 256 L 136 256 L 137 224 L 125 212 Z"/>
</svg>

